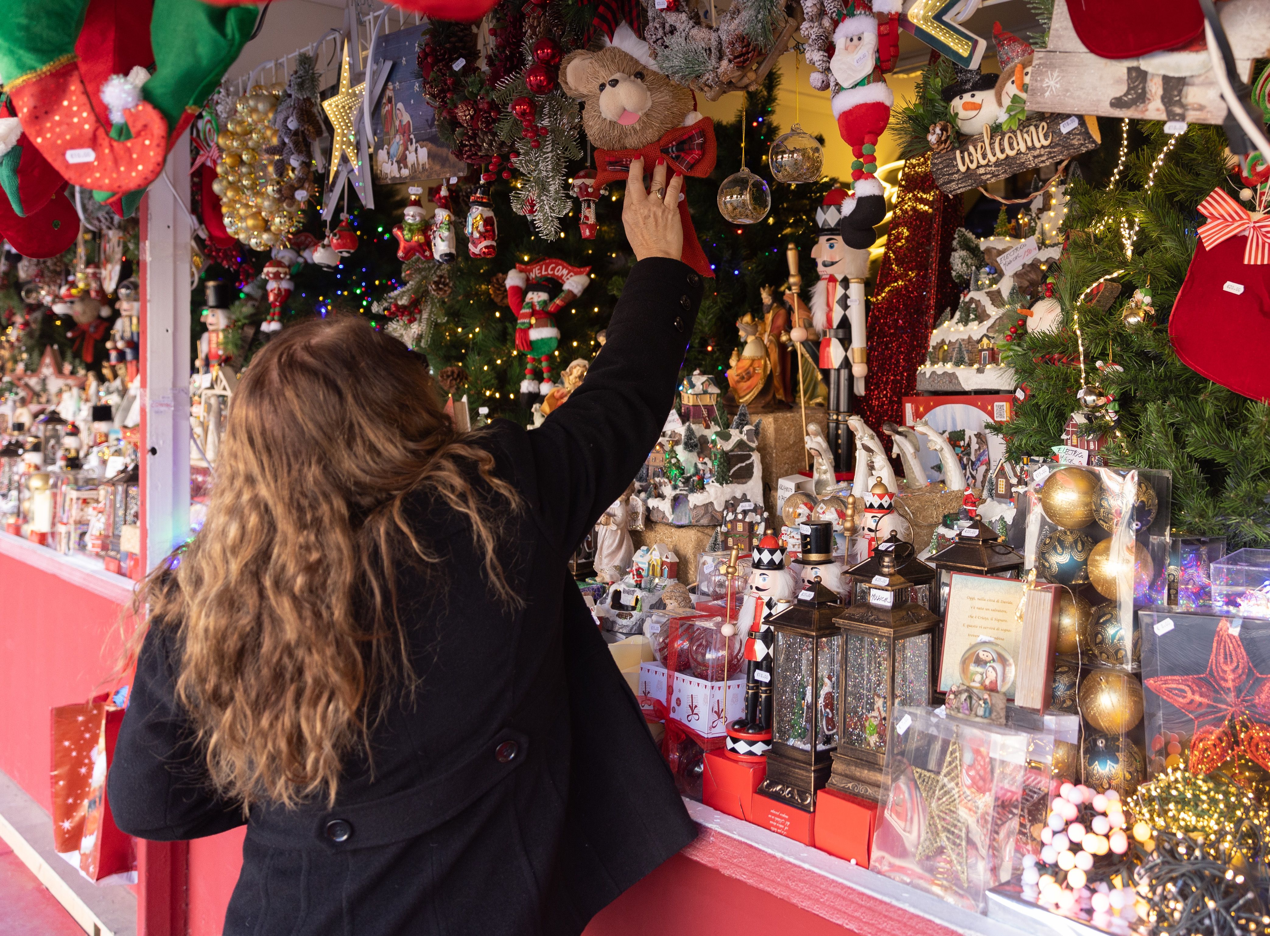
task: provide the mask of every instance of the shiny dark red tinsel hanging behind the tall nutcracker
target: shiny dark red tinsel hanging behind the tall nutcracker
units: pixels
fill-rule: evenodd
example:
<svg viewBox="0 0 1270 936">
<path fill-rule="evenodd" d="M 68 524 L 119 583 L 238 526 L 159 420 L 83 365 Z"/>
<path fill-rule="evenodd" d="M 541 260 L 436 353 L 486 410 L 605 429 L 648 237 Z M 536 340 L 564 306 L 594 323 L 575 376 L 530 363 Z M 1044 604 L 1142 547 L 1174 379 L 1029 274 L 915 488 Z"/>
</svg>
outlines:
<svg viewBox="0 0 1270 936">
<path fill-rule="evenodd" d="M 884 422 L 903 422 L 900 400 L 917 387 L 935 318 L 956 306 L 949 258 L 960 224 L 961 199 L 935 184 L 930 154 L 908 160 L 869 314 L 867 394 L 855 408 L 879 436 Z"/>
</svg>

